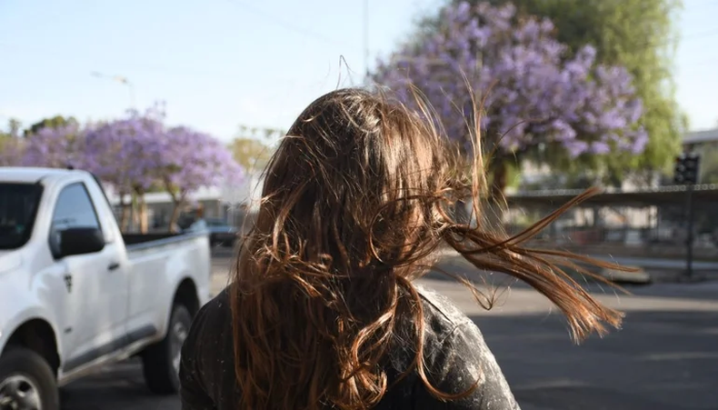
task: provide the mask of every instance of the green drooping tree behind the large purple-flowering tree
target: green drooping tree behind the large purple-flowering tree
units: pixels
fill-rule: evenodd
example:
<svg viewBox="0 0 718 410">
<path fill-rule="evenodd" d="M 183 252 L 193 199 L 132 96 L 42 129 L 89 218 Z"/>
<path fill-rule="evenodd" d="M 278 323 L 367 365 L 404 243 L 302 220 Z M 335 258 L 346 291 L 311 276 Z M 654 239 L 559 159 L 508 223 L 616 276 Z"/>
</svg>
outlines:
<svg viewBox="0 0 718 410">
<path fill-rule="evenodd" d="M 460 3 L 462 0 L 449 0 Z M 469 0 L 476 4 L 486 0 Z M 674 20 L 682 0 L 488 0 L 493 5 L 514 3 L 519 15 L 548 17 L 556 26 L 557 39 L 568 45 L 570 58 L 583 45 L 597 50 L 597 64 L 625 67 L 634 78 L 636 94 L 643 100 L 641 125 L 649 135 L 642 155 L 613 153 L 585 155 L 571 160 L 560 152 L 545 152 L 534 160 L 549 160 L 568 175 L 591 169 L 608 185 L 627 176 L 669 172 L 673 155 L 681 148 L 687 120 L 675 100 L 673 56 L 677 46 Z M 436 17 L 420 23 L 419 33 L 431 35 Z M 595 173 L 598 171 L 598 173 Z"/>
</svg>

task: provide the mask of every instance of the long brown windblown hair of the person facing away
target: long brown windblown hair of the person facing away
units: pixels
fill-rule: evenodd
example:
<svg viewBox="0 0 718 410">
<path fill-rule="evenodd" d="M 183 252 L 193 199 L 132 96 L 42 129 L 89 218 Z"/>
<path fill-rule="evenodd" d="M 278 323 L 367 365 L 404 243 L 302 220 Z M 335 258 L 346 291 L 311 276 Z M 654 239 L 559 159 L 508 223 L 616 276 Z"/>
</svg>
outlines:
<svg viewBox="0 0 718 410">
<path fill-rule="evenodd" d="M 532 285 L 563 311 L 576 340 L 620 325 L 620 313 L 560 267 L 578 269 L 571 258 L 585 258 L 522 245 L 591 192 L 513 237 L 459 223 L 452 206 L 468 196 L 484 220 L 484 160 L 475 155 L 464 176 L 462 155 L 428 114 L 381 93 L 341 89 L 309 105 L 280 143 L 230 286 L 238 408 L 376 405 L 389 387 L 382 364 L 406 317 L 415 347 L 407 372 L 454 398 L 424 374 L 424 313 L 412 285 L 444 244 L 478 269 Z M 482 300 L 470 281 L 456 279 Z"/>
</svg>

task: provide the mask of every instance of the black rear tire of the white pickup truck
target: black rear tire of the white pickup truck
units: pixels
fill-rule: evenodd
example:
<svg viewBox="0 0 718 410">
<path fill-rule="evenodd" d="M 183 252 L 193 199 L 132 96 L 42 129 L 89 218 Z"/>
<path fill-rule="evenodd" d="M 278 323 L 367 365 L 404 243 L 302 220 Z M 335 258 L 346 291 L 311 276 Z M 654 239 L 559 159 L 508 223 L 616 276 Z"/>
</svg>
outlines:
<svg viewBox="0 0 718 410">
<path fill-rule="evenodd" d="M 145 384 L 157 395 L 179 392 L 179 361 L 184 339 L 192 325 L 192 315 L 184 305 L 175 305 L 167 326 L 167 335 L 142 355 Z"/>
</svg>

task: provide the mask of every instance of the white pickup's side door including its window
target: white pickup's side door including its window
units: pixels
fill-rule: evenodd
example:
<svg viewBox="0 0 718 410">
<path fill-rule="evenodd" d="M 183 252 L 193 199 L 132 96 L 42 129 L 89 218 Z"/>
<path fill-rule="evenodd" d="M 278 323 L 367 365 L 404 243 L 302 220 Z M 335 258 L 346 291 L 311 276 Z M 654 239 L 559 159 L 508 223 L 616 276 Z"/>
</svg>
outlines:
<svg viewBox="0 0 718 410">
<path fill-rule="evenodd" d="M 66 185 L 59 193 L 48 238 L 57 274 L 65 282 L 65 372 L 124 347 L 127 307 L 126 275 L 116 241 L 105 243 L 99 252 L 62 256 L 61 235 L 71 228 L 109 229 L 100 223 L 82 182 Z"/>
</svg>

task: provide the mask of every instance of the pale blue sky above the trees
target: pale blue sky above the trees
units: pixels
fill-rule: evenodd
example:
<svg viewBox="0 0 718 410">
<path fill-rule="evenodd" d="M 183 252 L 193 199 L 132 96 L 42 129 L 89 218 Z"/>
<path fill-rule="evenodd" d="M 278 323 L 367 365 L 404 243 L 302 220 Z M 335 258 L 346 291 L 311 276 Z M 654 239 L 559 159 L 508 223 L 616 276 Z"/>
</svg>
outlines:
<svg viewBox="0 0 718 410">
<path fill-rule="evenodd" d="M 168 123 L 226 141 L 239 125 L 286 129 L 317 96 L 361 84 L 365 48 L 371 66 L 443 3 L 366 1 L 365 37 L 364 0 L 0 0 L 0 125 L 163 101 Z M 718 126 L 715 15 L 718 0 L 684 0 L 677 25 L 693 130 Z"/>
</svg>

